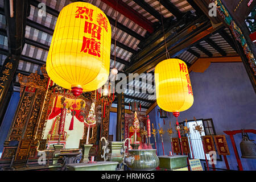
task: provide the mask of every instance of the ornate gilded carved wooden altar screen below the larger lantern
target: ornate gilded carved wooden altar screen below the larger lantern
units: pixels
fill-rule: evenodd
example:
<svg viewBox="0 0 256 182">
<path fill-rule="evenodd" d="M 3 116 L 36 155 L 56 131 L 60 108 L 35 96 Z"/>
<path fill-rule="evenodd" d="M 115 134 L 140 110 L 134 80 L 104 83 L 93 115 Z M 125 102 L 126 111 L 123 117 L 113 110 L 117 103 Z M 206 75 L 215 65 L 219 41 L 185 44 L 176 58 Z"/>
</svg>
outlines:
<svg viewBox="0 0 256 182">
<path fill-rule="evenodd" d="M 65 96 L 65 98 L 75 99 L 75 96 L 73 96 L 69 90 L 61 88 L 49 79 L 45 65 L 42 67 L 42 73 L 43 76 L 38 75 L 38 73 L 31 73 L 29 76 L 18 75 L 20 82 L 20 100 L 4 144 L 1 160 L 20 159 L 17 158 L 19 155 L 17 149 L 20 146 L 19 143 L 21 140 L 30 141 L 30 144 L 27 145 L 29 152 L 27 152 L 27 156 L 24 156 L 23 152 L 22 159 L 38 158 L 37 148 L 38 150 L 44 150 L 46 148 L 47 140 L 43 139 L 43 136 L 49 114 L 53 107 L 54 98 L 56 98 L 56 96 Z M 84 92 L 76 99 L 81 99 L 86 102 L 84 113 L 88 115 L 90 106 L 92 102 L 95 101 L 95 92 Z M 102 109 L 102 98 L 95 101 L 96 126 L 91 129 L 92 136 L 89 138 L 89 143 L 93 144 L 93 147 L 89 155 L 99 155 L 101 152 L 101 150 L 99 150 L 101 149 L 101 147 L 99 147 L 100 138 L 108 138 L 111 103 L 105 98 L 104 101 L 106 103 L 105 116 Z M 84 134 L 82 139 L 80 139 L 79 148 L 81 148 L 81 144 L 86 142 L 87 129 L 88 128 L 84 125 Z M 39 146 L 38 143 L 40 143 Z M 21 149 L 24 151 L 24 148 Z"/>
</svg>

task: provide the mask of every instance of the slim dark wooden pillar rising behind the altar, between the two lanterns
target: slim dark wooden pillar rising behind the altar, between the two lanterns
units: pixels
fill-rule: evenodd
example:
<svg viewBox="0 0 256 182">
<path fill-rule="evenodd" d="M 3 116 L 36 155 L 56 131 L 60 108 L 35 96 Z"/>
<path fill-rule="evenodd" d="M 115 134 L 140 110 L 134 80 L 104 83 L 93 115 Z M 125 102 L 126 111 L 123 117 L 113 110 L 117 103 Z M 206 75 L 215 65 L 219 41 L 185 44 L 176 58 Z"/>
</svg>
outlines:
<svg viewBox="0 0 256 182">
<path fill-rule="evenodd" d="M 122 114 L 124 105 L 123 105 L 123 93 L 117 94 L 117 131 L 116 131 L 116 141 L 122 140 Z"/>
</svg>

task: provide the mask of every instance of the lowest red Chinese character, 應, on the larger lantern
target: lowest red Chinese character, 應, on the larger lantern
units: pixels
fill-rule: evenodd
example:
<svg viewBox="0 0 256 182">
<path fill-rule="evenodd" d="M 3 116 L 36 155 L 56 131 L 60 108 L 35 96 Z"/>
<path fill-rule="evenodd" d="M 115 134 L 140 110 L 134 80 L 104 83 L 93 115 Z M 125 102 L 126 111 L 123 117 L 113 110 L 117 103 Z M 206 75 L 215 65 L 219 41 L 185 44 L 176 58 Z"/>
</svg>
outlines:
<svg viewBox="0 0 256 182">
<path fill-rule="evenodd" d="M 90 55 L 101 57 L 100 48 L 100 42 L 96 42 L 95 39 L 88 39 L 84 36 L 80 52 L 84 51 L 85 53 L 88 52 Z"/>
</svg>

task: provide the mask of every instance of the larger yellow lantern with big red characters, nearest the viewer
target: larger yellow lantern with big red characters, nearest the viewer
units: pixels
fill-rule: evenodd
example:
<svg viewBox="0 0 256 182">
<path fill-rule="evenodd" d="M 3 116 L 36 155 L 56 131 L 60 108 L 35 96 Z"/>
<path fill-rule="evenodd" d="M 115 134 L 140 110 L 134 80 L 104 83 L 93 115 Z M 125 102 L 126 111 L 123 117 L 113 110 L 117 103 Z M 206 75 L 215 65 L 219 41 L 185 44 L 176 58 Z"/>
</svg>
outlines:
<svg viewBox="0 0 256 182">
<path fill-rule="evenodd" d="M 111 32 L 108 18 L 98 7 L 85 2 L 65 6 L 46 61 L 51 80 L 75 96 L 104 85 L 109 76 Z"/>
</svg>

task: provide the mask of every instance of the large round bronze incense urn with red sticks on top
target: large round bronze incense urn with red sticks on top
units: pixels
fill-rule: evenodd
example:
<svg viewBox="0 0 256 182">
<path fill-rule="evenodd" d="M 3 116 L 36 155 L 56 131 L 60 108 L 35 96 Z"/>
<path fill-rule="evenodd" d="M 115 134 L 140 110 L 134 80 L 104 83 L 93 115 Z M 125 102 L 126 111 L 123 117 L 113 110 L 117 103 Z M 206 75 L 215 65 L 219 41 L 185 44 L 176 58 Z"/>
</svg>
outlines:
<svg viewBox="0 0 256 182">
<path fill-rule="evenodd" d="M 125 159 L 127 167 L 133 171 L 152 171 L 159 166 L 159 159 L 155 149 L 128 150 L 129 155 Z"/>
</svg>

